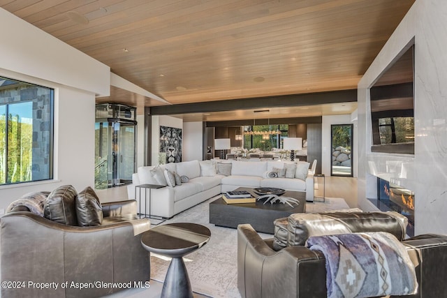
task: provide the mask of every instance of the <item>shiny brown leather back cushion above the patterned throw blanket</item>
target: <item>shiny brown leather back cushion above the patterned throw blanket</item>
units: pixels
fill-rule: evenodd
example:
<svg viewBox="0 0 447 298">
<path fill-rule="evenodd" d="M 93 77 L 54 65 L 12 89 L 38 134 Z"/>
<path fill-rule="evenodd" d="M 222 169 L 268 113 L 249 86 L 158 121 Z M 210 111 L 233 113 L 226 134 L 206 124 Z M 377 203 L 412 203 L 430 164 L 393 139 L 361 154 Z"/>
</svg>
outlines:
<svg viewBox="0 0 447 298">
<path fill-rule="evenodd" d="M 288 216 L 288 246 L 304 245 L 307 238 L 351 232 L 389 232 L 402 241 L 408 220 L 388 212 L 327 212 Z"/>
</svg>

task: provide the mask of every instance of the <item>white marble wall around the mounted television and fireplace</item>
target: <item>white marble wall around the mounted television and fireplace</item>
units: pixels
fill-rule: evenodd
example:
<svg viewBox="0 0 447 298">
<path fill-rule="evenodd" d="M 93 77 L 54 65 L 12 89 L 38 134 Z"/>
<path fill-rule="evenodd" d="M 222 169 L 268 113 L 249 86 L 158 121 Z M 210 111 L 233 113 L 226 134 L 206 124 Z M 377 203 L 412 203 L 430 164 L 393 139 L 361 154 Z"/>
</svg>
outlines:
<svg viewBox="0 0 447 298">
<path fill-rule="evenodd" d="M 358 84 L 358 200 L 363 209 L 371 193 L 374 165 L 381 174 L 395 173 L 383 161 L 404 161 L 410 179 L 400 179 L 415 193 L 415 233 L 447 234 L 447 2 L 416 0 L 379 55 Z M 370 151 L 371 120 L 369 87 L 395 60 L 406 45 L 415 40 L 415 154 L 379 154 Z M 393 177 L 393 179 L 396 177 Z M 398 178 L 398 177 L 397 177 Z"/>
</svg>

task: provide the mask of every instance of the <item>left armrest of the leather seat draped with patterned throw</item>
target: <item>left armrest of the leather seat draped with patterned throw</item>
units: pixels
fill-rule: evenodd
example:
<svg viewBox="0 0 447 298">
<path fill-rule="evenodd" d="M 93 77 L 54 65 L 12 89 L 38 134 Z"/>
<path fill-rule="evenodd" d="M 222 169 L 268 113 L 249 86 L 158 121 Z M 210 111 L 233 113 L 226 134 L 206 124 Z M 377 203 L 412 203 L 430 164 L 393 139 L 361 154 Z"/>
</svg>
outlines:
<svg viewBox="0 0 447 298">
<path fill-rule="evenodd" d="M 323 298 L 327 294 L 325 260 L 305 246 L 274 251 L 251 225 L 239 225 L 237 288 L 244 298 Z"/>
</svg>

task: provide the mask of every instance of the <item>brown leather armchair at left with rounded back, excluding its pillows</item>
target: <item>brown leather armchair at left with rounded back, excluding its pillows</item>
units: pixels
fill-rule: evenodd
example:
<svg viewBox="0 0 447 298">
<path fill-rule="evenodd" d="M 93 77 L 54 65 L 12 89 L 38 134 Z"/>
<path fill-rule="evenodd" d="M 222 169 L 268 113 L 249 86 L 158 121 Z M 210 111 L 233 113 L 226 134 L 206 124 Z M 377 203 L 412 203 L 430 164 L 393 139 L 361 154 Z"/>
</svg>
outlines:
<svg viewBox="0 0 447 298">
<path fill-rule="evenodd" d="M 55 223 L 24 207 L 1 217 L 1 281 L 11 285 L 2 286 L 1 296 L 102 297 L 122 290 L 111 283 L 149 281 L 149 253 L 140 243 L 149 219 L 135 219 L 134 200 L 102 206 L 103 224 L 96 227 Z"/>
</svg>

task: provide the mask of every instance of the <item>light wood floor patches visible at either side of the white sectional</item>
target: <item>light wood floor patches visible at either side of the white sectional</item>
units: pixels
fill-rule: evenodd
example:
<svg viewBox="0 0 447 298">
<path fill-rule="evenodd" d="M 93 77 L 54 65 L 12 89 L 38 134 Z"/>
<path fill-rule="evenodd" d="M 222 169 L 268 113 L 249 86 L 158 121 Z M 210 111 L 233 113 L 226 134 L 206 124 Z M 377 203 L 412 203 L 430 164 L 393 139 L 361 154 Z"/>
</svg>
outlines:
<svg viewBox="0 0 447 298">
<path fill-rule="evenodd" d="M 128 200 L 127 186 L 119 186 L 96 190 L 101 202 L 116 202 Z M 358 207 L 357 204 L 357 178 L 351 177 L 325 177 L 325 197 L 344 198 L 349 207 Z"/>
</svg>

